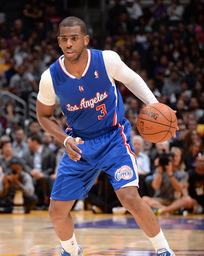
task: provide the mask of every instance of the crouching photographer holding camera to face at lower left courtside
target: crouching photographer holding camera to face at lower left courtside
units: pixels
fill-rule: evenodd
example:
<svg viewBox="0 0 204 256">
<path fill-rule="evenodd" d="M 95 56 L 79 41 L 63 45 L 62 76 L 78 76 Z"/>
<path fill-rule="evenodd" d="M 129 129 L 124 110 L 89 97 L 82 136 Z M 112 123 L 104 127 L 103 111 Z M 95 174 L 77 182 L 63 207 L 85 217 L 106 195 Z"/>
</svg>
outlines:
<svg viewBox="0 0 204 256">
<path fill-rule="evenodd" d="M 15 192 L 21 190 L 25 213 L 29 213 L 37 203 L 32 177 L 23 171 L 23 163 L 19 158 L 13 158 L 8 167 L 10 171 L 2 173 L 0 179 L 0 212 L 12 212 Z"/>
</svg>

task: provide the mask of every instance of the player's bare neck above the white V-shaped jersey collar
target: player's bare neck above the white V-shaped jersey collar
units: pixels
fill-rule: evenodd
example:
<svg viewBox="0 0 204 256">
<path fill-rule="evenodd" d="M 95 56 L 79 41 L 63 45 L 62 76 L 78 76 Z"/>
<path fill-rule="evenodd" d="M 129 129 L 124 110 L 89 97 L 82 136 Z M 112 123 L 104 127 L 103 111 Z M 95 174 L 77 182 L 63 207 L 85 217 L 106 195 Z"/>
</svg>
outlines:
<svg viewBox="0 0 204 256">
<path fill-rule="evenodd" d="M 82 55 L 79 59 L 75 62 L 71 62 L 65 58 L 65 68 L 66 71 L 69 72 L 71 75 L 75 76 L 76 78 L 80 79 L 84 70 L 86 69 L 88 62 L 88 50 L 87 48 L 84 49 Z"/>
</svg>

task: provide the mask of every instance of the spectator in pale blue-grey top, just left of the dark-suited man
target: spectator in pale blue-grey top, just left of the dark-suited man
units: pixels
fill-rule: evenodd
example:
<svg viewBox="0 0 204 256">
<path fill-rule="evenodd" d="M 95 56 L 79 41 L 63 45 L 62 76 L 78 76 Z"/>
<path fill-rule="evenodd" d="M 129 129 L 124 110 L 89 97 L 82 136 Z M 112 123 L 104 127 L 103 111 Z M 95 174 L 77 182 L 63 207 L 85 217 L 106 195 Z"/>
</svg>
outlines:
<svg viewBox="0 0 204 256">
<path fill-rule="evenodd" d="M 18 158 L 23 158 L 24 153 L 28 150 L 26 144 L 25 131 L 23 126 L 18 126 L 14 130 L 14 141 L 12 142 L 13 152 Z"/>
</svg>

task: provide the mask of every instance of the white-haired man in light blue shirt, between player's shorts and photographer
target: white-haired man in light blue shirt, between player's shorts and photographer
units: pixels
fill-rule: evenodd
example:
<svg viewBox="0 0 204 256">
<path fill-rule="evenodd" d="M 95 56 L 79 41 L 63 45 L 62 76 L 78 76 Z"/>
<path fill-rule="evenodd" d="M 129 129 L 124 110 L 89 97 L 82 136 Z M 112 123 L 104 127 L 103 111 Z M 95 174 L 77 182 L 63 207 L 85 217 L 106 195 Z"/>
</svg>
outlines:
<svg viewBox="0 0 204 256">
<path fill-rule="evenodd" d="M 131 138 L 131 141 L 133 143 L 135 156 L 137 159 L 137 165 L 138 165 L 138 175 L 139 175 L 139 188 L 138 192 L 139 195 L 145 196 L 145 177 L 150 174 L 150 158 L 148 155 L 144 152 L 144 139 L 140 135 L 135 135 L 133 138 Z"/>
</svg>

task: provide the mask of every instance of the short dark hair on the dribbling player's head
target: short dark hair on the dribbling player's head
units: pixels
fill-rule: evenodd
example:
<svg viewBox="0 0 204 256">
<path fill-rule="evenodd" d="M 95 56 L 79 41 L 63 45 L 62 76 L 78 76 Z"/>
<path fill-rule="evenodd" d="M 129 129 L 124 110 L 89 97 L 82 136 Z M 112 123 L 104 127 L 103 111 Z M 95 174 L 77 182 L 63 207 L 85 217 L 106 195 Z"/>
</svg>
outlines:
<svg viewBox="0 0 204 256">
<path fill-rule="evenodd" d="M 59 28 L 58 28 L 59 35 L 60 35 L 60 28 L 61 27 L 75 27 L 75 26 L 79 26 L 80 27 L 80 32 L 83 35 L 87 35 L 86 24 L 83 22 L 82 19 L 79 19 L 79 18 L 74 17 L 74 16 L 69 16 L 69 17 L 63 19 L 61 23 L 59 23 Z"/>
</svg>

